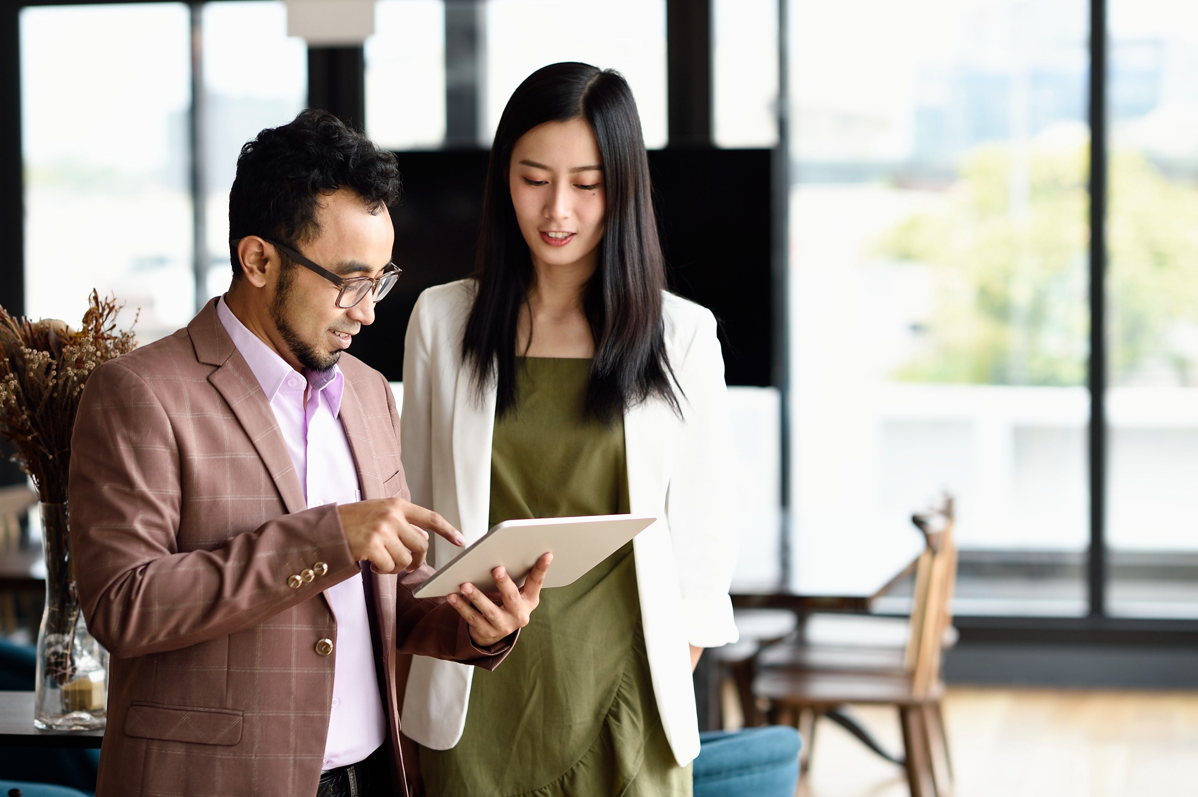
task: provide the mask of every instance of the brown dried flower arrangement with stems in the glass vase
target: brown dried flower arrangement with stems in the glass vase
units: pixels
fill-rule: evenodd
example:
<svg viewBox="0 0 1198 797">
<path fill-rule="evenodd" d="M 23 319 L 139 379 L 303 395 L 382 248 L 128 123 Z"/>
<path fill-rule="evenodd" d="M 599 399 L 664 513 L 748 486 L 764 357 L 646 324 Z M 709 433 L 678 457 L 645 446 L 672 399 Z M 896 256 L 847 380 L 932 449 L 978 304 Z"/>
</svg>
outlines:
<svg viewBox="0 0 1198 797">
<path fill-rule="evenodd" d="M 81 327 L 13 318 L 0 307 L 0 437 L 34 479 L 42 500 L 47 568 L 43 618 L 46 675 L 60 687 L 77 674 L 79 600 L 71 573 L 67 472 L 84 384 L 96 367 L 137 346 L 116 328 L 123 306 L 91 292 Z M 137 321 L 134 320 L 134 324 Z"/>
</svg>

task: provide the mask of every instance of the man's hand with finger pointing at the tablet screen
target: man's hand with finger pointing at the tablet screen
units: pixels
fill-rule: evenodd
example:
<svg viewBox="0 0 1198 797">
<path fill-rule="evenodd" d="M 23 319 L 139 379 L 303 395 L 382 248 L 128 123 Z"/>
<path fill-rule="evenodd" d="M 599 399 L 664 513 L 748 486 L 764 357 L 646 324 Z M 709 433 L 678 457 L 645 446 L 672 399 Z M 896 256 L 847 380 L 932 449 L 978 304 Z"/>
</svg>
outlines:
<svg viewBox="0 0 1198 797">
<path fill-rule="evenodd" d="M 370 561 L 375 573 L 392 574 L 419 568 L 429 550 L 430 529 L 454 545 L 461 533 L 431 509 L 403 499 L 371 499 L 337 507 L 345 542 L 355 561 Z"/>
</svg>

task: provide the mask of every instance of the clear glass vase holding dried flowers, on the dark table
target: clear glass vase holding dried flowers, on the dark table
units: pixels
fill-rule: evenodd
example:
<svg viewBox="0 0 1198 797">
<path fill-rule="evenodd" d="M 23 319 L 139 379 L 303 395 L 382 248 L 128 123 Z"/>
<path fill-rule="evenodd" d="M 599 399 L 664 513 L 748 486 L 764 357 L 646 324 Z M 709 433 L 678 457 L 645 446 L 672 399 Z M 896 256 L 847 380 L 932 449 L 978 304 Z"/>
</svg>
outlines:
<svg viewBox="0 0 1198 797">
<path fill-rule="evenodd" d="M 46 609 L 37 634 L 34 725 L 92 731 L 108 718 L 108 651 L 87 633 L 71 563 L 66 503 L 42 502 Z"/>
</svg>

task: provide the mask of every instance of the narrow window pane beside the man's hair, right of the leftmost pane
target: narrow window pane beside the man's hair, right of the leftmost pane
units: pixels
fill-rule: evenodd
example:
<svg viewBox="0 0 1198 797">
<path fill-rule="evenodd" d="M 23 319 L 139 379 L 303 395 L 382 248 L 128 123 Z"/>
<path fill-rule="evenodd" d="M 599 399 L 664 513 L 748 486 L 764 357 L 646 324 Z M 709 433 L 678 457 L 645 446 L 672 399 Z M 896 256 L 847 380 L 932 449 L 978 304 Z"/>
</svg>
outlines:
<svg viewBox="0 0 1198 797">
<path fill-rule="evenodd" d="M 204 188 L 207 199 L 207 296 L 229 288 L 229 189 L 242 145 L 286 123 L 308 97 L 308 46 L 289 37 L 283 2 L 204 6 Z"/>
</svg>

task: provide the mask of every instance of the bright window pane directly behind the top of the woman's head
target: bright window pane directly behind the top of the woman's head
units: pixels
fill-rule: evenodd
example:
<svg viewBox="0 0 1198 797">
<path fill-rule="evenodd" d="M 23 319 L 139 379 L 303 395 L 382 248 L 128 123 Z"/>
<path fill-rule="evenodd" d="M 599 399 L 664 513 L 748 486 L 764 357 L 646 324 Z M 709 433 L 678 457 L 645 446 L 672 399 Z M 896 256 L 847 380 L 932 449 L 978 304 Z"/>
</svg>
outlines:
<svg viewBox="0 0 1198 797">
<path fill-rule="evenodd" d="M 558 61 L 622 72 L 641 111 L 645 145 L 665 146 L 665 0 L 488 0 L 483 103 L 488 140 L 516 86 Z"/>
</svg>

